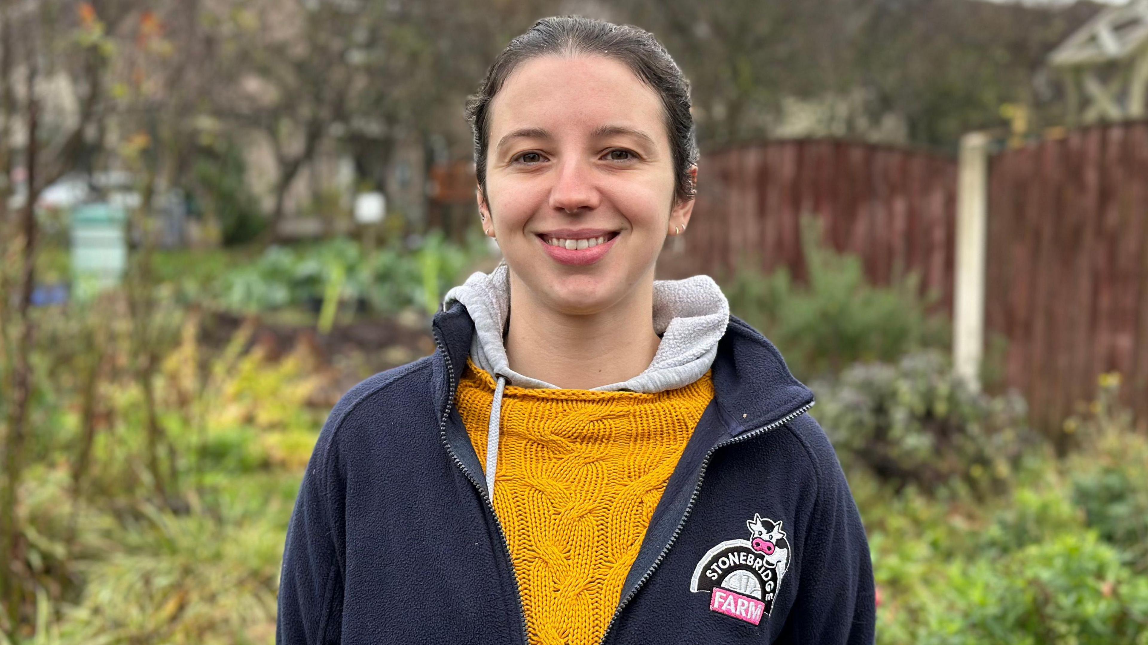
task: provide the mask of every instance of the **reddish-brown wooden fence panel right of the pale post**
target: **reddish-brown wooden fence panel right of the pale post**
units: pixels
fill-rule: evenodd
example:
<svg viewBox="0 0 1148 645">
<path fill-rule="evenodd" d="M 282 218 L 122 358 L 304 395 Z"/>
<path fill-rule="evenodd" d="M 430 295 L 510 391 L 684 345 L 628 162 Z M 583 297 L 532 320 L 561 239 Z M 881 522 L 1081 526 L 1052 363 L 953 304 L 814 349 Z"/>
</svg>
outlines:
<svg viewBox="0 0 1148 645">
<path fill-rule="evenodd" d="M 1148 123 L 991 157 L 987 244 L 985 326 L 1033 420 L 1058 423 L 1110 371 L 1148 419 Z"/>
</svg>

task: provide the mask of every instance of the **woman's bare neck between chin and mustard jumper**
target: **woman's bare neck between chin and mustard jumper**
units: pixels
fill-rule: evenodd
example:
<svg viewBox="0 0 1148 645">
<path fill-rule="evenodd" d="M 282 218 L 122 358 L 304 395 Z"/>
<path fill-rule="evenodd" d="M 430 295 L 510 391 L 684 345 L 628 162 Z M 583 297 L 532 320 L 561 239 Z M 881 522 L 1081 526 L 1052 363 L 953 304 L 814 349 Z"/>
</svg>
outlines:
<svg viewBox="0 0 1148 645">
<path fill-rule="evenodd" d="M 652 277 L 611 308 L 587 314 L 546 306 L 513 271 L 510 288 L 506 358 L 519 374 L 588 390 L 641 374 L 658 351 Z"/>
</svg>

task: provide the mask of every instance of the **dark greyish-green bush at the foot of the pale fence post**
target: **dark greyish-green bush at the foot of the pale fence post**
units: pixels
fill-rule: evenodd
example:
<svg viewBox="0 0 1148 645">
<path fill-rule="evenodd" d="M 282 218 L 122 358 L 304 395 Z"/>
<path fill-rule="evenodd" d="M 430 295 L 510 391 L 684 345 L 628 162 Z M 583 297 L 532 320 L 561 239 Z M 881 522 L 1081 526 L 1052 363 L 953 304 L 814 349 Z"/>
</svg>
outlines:
<svg viewBox="0 0 1148 645">
<path fill-rule="evenodd" d="M 1035 441 L 1023 399 L 970 390 L 933 350 L 895 365 L 859 363 L 813 389 L 841 461 L 898 485 L 931 490 L 960 480 L 978 491 L 999 488 Z"/>
</svg>

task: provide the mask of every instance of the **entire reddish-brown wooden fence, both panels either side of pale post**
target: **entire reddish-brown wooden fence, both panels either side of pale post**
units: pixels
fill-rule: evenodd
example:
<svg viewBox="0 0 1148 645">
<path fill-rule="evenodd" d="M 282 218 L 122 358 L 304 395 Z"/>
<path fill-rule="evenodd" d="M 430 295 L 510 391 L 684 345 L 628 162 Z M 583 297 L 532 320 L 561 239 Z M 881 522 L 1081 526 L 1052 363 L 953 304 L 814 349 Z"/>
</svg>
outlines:
<svg viewBox="0 0 1148 645">
<path fill-rule="evenodd" d="M 956 162 L 832 140 L 768 142 L 703 155 L 685 252 L 669 273 L 805 273 L 799 219 L 861 257 L 870 280 L 916 272 L 952 312 Z M 988 164 L 985 328 L 1007 341 L 1004 384 L 1055 428 L 1119 372 L 1148 420 L 1148 122 L 1072 131 Z M 673 249 L 673 246 L 670 247 Z"/>
</svg>

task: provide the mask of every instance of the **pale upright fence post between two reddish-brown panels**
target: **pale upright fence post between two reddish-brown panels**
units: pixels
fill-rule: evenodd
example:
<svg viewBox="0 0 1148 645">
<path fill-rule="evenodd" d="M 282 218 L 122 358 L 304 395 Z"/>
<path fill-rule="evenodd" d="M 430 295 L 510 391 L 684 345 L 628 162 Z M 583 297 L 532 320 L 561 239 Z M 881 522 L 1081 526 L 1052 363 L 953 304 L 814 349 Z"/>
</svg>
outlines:
<svg viewBox="0 0 1148 645">
<path fill-rule="evenodd" d="M 957 158 L 953 366 L 977 390 L 985 347 L 988 140 L 984 132 L 967 133 Z"/>
</svg>

